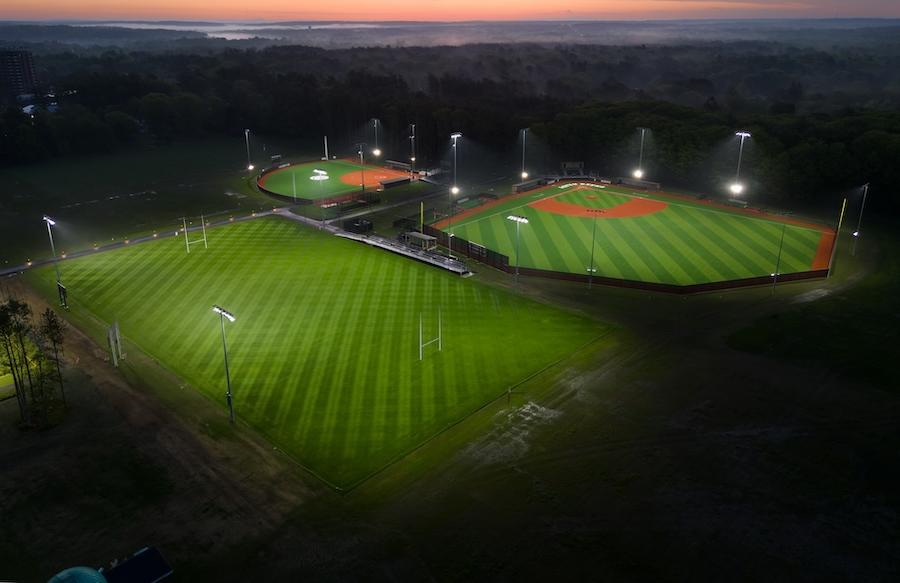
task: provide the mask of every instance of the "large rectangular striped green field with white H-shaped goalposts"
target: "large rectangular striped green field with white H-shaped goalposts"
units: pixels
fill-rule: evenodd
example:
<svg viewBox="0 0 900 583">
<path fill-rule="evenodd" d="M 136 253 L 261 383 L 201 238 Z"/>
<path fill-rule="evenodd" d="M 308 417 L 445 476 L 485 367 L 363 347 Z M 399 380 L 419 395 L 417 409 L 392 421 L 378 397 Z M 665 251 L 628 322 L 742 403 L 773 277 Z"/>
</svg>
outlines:
<svg viewBox="0 0 900 583">
<path fill-rule="evenodd" d="M 348 487 L 601 335 L 596 322 L 278 217 L 209 231 L 190 255 L 159 240 L 62 264 L 73 311 L 224 408 L 214 303 L 238 416 Z M 29 277 L 52 297 L 53 270 Z M 443 352 L 418 360 L 443 318 Z M 223 415 L 225 411 L 223 410 Z"/>
</svg>

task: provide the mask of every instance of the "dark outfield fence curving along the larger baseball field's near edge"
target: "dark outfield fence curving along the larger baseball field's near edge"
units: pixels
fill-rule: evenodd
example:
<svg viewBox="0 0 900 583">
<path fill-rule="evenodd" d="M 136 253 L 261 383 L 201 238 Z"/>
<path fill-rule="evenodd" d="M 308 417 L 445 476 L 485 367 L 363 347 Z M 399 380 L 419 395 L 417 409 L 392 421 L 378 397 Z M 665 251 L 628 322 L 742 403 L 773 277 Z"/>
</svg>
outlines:
<svg viewBox="0 0 900 583">
<path fill-rule="evenodd" d="M 431 225 L 425 225 L 424 233 L 437 238 L 438 244 L 442 247 L 450 249 L 453 253 L 465 255 L 471 259 L 483 263 L 489 267 L 499 269 L 506 273 L 514 273 L 515 265 L 511 265 L 509 257 L 498 253 L 487 247 L 483 247 L 477 243 L 472 243 L 460 237 L 450 237 L 445 231 L 435 229 Z M 747 277 L 743 279 L 731 279 L 724 281 L 711 281 L 707 283 L 696 283 L 690 285 L 675 285 L 669 283 L 656 283 L 650 281 L 637 281 L 631 279 L 617 279 L 614 277 L 604 277 L 582 273 L 569 273 L 566 271 L 552 271 L 549 269 L 535 269 L 533 267 L 519 267 L 519 275 L 529 275 L 533 277 L 544 277 L 548 279 L 559 279 L 563 281 L 576 281 L 581 283 L 593 283 L 597 285 L 605 285 L 611 287 L 621 287 L 626 289 L 639 289 L 645 291 L 664 292 L 670 294 L 696 294 L 703 292 L 713 292 L 728 289 L 738 289 L 744 287 L 757 287 L 763 285 L 772 285 L 775 283 L 775 276 L 763 275 L 759 277 Z M 824 279 L 828 277 L 828 269 L 816 269 L 811 271 L 801 271 L 797 273 L 779 273 L 777 283 L 788 283 L 792 281 L 806 281 L 811 279 Z"/>
</svg>

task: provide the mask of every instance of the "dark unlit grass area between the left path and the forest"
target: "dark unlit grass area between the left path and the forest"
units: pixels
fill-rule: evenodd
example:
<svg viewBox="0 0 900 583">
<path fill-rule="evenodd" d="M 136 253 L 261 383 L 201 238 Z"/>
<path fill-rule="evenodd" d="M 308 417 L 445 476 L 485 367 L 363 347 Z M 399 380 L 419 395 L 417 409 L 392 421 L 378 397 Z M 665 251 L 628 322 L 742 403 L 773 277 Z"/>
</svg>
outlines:
<svg viewBox="0 0 900 583">
<path fill-rule="evenodd" d="M 210 139 L 66 157 L 0 170 L 0 267 L 175 228 L 180 217 L 249 214 L 271 198 L 249 187 L 242 140 Z"/>
</svg>

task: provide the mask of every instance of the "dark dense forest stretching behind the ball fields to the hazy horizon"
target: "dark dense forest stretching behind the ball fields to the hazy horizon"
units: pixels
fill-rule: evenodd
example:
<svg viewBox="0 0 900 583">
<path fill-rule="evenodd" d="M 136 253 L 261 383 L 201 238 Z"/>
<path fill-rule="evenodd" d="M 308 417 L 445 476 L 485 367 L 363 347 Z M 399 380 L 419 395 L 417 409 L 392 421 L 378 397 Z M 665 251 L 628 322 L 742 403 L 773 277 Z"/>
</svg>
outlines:
<svg viewBox="0 0 900 583">
<path fill-rule="evenodd" d="M 406 124 L 416 123 L 420 156 L 432 163 L 452 131 L 505 152 L 530 127 L 543 146 L 541 170 L 570 159 L 619 175 L 634 164 L 640 126 L 652 130 L 654 178 L 720 191 L 733 172 L 734 131 L 746 129 L 753 134 L 747 177 L 767 202 L 814 203 L 864 182 L 887 193 L 900 181 L 900 82 L 891 72 L 900 61 L 863 49 L 274 46 L 36 58 L 59 107 L 32 115 L 6 109 L 3 164 L 243 128 L 287 138 L 328 134 L 349 151 L 374 117 L 388 151 L 405 152 Z M 896 210 L 898 200 L 881 196 L 877 205 Z"/>
</svg>

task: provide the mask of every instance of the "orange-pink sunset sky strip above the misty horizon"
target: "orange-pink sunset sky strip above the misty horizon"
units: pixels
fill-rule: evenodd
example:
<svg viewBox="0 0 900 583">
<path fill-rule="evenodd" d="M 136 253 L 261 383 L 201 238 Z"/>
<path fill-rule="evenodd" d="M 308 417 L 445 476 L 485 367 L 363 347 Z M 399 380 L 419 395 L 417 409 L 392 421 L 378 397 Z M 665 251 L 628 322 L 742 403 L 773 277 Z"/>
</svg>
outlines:
<svg viewBox="0 0 900 583">
<path fill-rule="evenodd" d="M 900 0 L 0 0 L 0 19 L 534 20 L 900 17 Z"/>
</svg>

